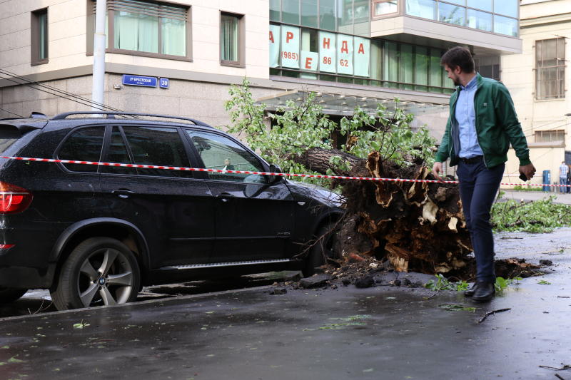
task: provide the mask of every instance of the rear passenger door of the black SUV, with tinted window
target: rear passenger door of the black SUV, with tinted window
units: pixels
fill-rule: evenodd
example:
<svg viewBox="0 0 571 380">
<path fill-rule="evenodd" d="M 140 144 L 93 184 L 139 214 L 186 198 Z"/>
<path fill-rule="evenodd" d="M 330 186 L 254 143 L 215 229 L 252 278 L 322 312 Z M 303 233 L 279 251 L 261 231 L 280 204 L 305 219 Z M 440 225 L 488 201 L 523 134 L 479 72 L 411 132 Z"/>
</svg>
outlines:
<svg viewBox="0 0 571 380">
<path fill-rule="evenodd" d="M 108 128 L 107 162 L 191 166 L 179 128 Z M 101 187 L 111 199 L 113 215 L 143 231 L 151 269 L 208 262 L 215 237 L 213 197 L 195 172 L 104 166 Z"/>
</svg>

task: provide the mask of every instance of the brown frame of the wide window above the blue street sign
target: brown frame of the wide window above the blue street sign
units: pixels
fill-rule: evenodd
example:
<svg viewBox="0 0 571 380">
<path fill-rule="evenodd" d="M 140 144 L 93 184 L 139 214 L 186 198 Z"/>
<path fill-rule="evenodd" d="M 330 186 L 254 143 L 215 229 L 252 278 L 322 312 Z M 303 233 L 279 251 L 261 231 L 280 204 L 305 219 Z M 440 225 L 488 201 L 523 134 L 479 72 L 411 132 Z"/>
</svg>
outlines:
<svg viewBox="0 0 571 380">
<path fill-rule="evenodd" d="M 123 1 L 123 0 L 117 0 Z M 165 54 L 161 53 L 163 48 L 163 41 L 162 41 L 162 29 L 163 29 L 163 19 L 166 17 L 163 16 L 162 13 L 158 15 L 158 25 L 157 25 L 157 36 L 158 36 L 158 46 L 157 51 L 158 53 L 152 53 L 147 51 L 138 51 L 138 50 L 128 50 L 124 48 L 115 48 L 115 12 L 116 9 L 116 2 L 115 0 L 108 0 L 107 1 L 107 9 L 106 9 L 106 53 L 116 53 L 116 54 L 126 54 L 129 56 L 143 56 L 149 58 L 165 58 L 174 61 L 187 61 L 192 62 L 192 6 L 179 4 L 171 1 L 155 1 L 155 0 L 134 0 L 128 1 L 130 4 L 136 3 L 151 3 L 156 4 L 158 6 L 168 6 L 168 7 L 178 7 L 181 9 L 185 9 L 185 55 L 178 56 L 173 54 Z M 143 5 L 143 4 L 141 4 Z M 141 8 L 143 11 L 146 11 L 144 8 Z M 136 10 L 136 7 L 133 7 L 133 10 Z M 91 56 L 94 52 L 94 33 L 95 33 L 95 11 L 96 11 L 96 0 L 88 0 L 87 1 L 87 39 L 86 39 L 86 55 Z"/>
</svg>

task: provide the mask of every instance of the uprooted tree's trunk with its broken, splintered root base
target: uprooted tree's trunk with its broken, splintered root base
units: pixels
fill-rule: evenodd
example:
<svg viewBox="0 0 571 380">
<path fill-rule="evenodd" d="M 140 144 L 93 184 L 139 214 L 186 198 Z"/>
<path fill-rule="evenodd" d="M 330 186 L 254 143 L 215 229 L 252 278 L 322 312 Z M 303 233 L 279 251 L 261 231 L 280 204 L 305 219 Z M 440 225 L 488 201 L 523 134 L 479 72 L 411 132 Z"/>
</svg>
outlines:
<svg viewBox="0 0 571 380">
<path fill-rule="evenodd" d="M 340 175 L 433 180 L 428 168 L 383 162 L 378 152 L 367 160 L 337 150 L 312 148 L 296 158 L 307 168 L 325 173 L 333 155 L 350 170 Z M 347 214 L 340 227 L 340 250 L 388 259 L 396 270 L 425 273 L 463 271 L 472 251 L 458 185 L 370 180 L 341 180 Z"/>
</svg>

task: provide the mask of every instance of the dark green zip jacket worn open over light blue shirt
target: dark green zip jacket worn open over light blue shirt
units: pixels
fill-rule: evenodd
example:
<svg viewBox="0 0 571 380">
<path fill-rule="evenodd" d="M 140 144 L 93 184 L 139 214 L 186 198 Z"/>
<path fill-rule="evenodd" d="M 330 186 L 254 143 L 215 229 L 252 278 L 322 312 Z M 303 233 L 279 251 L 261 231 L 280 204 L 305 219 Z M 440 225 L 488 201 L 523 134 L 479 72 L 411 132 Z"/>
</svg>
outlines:
<svg viewBox="0 0 571 380">
<path fill-rule="evenodd" d="M 492 168 L 507 161 L 507 150 L 510 143 L 515 149 L 515 155 L 520 159 L 520 166 L 528 165 L 530 150 L 523 134 L 520 122 L 517 120 L 515 108 L 510 93 L 505 86 L 493 79 L 477 76 L 477 89 L 474 96 L 476 115 L 477 142 L 484 153 L 487 168 Z M 460 130 L 456 121 L 456 101 L 460 86 L 450 96 L 450 115 L 446 131 L 436 153 L 435 160 L 444 162 L 450 158 L 450 166 L 458 164 L 460 152 Z"/>
</svg>

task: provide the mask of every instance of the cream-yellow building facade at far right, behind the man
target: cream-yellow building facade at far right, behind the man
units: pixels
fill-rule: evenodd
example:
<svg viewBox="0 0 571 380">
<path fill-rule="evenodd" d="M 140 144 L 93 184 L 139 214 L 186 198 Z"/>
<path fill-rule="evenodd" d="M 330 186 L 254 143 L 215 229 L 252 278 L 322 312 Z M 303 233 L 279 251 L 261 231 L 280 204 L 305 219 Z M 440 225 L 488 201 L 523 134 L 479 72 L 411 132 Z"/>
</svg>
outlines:
<svg viewBox="0 0 571 380">
<path fill-rule="evenodd" d="M 570 0 L 522 0 L 522 53 L 501 59 L 502 81 L 512 93 L 530 158 L 538 174 L 550 171 L 552 183 L 558 181 L 562 161 L 571 164 L 570 31 Z M 511 155 L 506 176 L 513 180 L 517 178 L 517 160 L 512 159 L 513 152 Z M 541 182 L 541 175 L 532 180 Z"/>
</svg>

